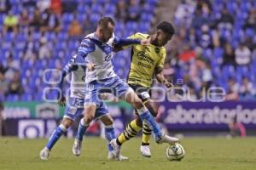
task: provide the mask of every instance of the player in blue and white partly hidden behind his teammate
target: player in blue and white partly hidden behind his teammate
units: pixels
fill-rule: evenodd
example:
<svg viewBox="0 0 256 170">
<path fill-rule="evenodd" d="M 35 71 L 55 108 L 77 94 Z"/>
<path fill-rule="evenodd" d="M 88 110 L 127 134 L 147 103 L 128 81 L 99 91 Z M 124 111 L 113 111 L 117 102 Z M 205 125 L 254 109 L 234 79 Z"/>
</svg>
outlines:
<svg viewBox="0 0 256 170">
<path fill-rule="evenodd" d="M 61 124 L 55 128 L 55 131 L 51 134 L 48 143 L 40 152 L 40 158 L 42 160 L 47 160 L 49 158 L 50 150 L 52 150 L 55 143 L 61 138 L 61 135 L 67 131 L 67 128 L 70 127 L 72 123 L 82 115 L 84 111 L 84 78 L 86 66 L 90 67 L 91 65 L 84 65 L 84 63 L 80 63 L 77 55 L 74 55 L 71 59 L 69 59 L 69 62 L 62 70 L 59 88 L 62 90 L 64 78 L 67 76 L 67 74 L 71 73 L 70 95 L 68 96 L 68 103 Z M 61 106 L 66 105 L 66 98 L 64 95 L 61 95 L 59 104 Z M 108 160 L 113 160 L 115 159 L 114 150 L 109 144 L 109 142 L 115 138 L 113 119 L 109 115 L 106 105 L 103 103 L 100 105 L 101 107 L 96 110 L 95 119 L 101 120 L 105 126 L 105 137 L 108 140 Z M 89 127 L 89 124 L 84 124 L 84 127 Z M 83 136 L 80 138 L 83 138 Z M 81 150 L 76 150 L 76 148 L 73 148 L 73 154 L 75 156 L 80 156 Z M 128 158 L 125 156 L 120 156 L 119 161 L 125 160 L 128 160 Z"/>
</svg>

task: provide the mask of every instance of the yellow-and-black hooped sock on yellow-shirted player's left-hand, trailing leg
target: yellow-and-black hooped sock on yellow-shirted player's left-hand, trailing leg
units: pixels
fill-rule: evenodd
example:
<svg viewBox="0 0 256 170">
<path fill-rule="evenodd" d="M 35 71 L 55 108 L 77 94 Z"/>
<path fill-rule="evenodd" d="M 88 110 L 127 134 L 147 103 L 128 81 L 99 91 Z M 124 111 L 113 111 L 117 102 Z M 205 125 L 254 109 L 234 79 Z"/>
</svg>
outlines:
<svg viewBox="0 0 256 170">
<path fill-rule="evenodd" d="M 142 129 L 142 127 L 138 127 L 136 120 L 131 121 L 127 127 L 125 128 L 124 132 L 119 135 L 117 138 L 117 143 L 119 145 L 124 144 L 125 141 L 133 138 L 137 135 L 137 133 Z"/>
</svg>

